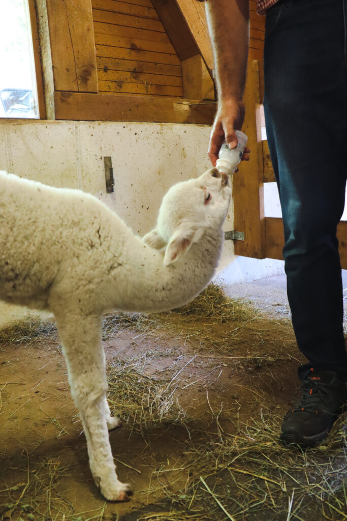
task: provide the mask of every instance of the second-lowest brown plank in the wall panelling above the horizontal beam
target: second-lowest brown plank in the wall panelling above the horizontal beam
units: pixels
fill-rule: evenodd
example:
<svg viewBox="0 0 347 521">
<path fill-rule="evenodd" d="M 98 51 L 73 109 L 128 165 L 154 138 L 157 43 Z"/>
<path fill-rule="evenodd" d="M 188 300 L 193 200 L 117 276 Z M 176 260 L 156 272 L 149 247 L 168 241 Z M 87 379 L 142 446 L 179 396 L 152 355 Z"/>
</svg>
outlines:
<svg viewBox="0 0 347 521">
<path fill-rule="evenodd" d="M 121 71 L 121 70 L 98 70 L 98 80 L 105 81 L 121 81 L 130 83 L 146 83 L 155 85 L 170 85 L 176 87 L 183 87 L 181 76 L 166 76 L 162 74 L 147 74 L 143 72 Z M 182 95 L 182 94 L 181 94 Z M 189 96 L 186 96 L 189 97 Z M 200 98 L 195 97 L 198 100 Z"/>
</svg>

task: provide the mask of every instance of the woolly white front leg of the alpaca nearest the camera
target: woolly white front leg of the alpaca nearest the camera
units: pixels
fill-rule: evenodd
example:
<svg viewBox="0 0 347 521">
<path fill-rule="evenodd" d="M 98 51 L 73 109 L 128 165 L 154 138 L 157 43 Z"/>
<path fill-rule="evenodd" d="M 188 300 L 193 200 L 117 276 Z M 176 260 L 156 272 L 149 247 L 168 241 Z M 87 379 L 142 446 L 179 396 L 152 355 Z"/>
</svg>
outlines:
<svg viewBox="0 0 347 521">
<path fill-rule="evenodd" d="M 108 425 L 117 424 L 118 418 L 110 416 L 106 402 L 101 318 L 91 315 L 76 317 L 75 313 L 55 315 L 67 361 L 71 393 L 82 419 L 95 483 L 106 499 L 127 500 L 129 488 L 117 478 L 108 437 Z"/>
</svg>

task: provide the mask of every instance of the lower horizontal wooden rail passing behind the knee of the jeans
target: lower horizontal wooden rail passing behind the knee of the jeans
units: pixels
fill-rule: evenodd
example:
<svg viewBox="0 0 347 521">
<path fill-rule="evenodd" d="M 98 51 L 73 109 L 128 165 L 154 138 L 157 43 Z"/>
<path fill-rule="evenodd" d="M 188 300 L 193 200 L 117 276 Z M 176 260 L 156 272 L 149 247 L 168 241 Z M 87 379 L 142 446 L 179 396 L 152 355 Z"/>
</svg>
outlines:
<svg viewBox="0 0 347 521">
<path fill-rule="evenodd" d="M 283 221 L 279 217 L 265 218 L 266 257 L 283 260 L 282 250 L 285 245 Z M 340 221 L 337 227 L 339 253 L 342 269 L 347 269 L 347 221 Z"/>
</svg>

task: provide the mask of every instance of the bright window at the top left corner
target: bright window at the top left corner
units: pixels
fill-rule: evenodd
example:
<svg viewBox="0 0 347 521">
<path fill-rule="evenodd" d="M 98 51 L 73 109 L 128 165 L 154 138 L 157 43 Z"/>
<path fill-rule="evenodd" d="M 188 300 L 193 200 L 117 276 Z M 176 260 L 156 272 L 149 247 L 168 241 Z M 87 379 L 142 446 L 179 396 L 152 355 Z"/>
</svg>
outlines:
<svg viewBox="0 0 347 521">
<path fill-rule="evenodd" d="M 0 5 L 0 117 L 39 118 L 32 0 L 8 0 Z"/>
</svg>

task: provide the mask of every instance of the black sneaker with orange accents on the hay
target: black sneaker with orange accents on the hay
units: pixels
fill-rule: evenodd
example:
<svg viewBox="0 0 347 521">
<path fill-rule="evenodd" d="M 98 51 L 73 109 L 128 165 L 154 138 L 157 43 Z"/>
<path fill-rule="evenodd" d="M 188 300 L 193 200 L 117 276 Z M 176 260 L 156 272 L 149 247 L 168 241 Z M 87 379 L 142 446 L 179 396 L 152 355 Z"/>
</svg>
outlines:
<svg viewBox="0 0 347 521">
<path fill-rule="evenodd" d="M 314 446 L 323 441 L 341 413 L 347 398 L 346 384 L 332 371 L 311 369 L 303 380 L 299 403 L 282 421 L 280 439 Z"/>
</svg>

